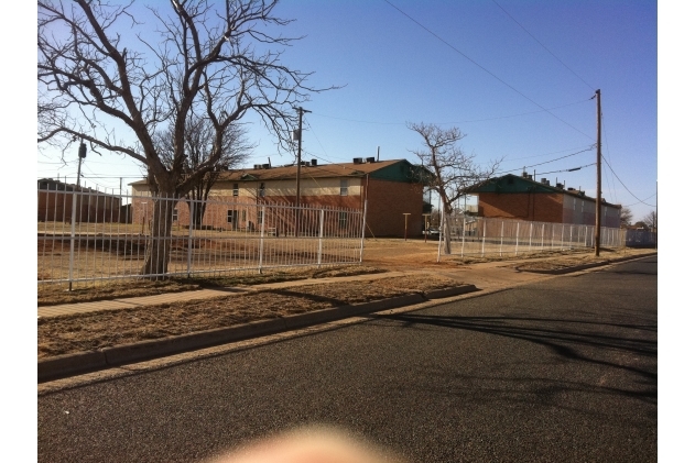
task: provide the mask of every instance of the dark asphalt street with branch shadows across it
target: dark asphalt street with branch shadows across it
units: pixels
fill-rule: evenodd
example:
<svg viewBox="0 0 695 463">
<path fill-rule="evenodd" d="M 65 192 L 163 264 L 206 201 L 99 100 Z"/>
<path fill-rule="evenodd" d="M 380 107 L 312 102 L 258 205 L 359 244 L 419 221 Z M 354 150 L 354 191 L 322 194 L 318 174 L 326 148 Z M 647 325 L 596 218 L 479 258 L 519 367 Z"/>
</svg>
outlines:
<svg viewBox="0 0 695 463">
<path fill-rule="evenodd" d="M 40 462 L 326 423 L 412 462 L 656 461 L 656 256 L 39 396 Z"/>
</svg>

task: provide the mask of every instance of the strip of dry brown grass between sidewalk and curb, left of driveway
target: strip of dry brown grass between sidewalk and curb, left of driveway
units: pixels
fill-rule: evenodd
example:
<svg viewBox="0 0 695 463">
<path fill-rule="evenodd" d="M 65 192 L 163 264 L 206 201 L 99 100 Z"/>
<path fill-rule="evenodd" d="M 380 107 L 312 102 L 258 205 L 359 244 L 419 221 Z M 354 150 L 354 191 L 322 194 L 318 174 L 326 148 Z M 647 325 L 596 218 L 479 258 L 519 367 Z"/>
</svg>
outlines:
<svg viewBox="0 0 695 463">
<path fill-rule="evenodd" d="M 314 284 L 214 299 L 39 319 L 39 359 L 456 286 L 409 276 Z"/>
</svg>

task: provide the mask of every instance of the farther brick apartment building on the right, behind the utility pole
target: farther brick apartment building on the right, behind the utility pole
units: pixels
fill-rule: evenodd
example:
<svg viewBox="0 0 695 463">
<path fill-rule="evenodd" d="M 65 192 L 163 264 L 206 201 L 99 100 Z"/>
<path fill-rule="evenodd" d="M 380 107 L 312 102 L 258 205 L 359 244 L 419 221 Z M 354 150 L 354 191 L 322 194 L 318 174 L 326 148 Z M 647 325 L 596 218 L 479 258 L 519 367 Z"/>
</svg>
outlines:
<svg viewBox="0 0 695 463">
<path fill-rule="evenodd" d="M 596 224 L 596 199 L 563 184 L 530 175 L 504 175 L 469 189 L 478 196 L 478 216 L 537 222 Z M 620 206 L 601 202 L 601 227 L 620 228 Z"/>
</svg>

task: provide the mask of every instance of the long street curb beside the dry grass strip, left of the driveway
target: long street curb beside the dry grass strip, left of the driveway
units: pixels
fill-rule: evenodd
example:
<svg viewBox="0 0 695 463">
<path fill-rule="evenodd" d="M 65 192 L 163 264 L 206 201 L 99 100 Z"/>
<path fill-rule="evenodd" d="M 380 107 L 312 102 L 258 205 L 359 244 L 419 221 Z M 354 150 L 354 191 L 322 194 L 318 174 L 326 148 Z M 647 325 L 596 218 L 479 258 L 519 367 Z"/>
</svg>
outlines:
<svg viewBox="0 0 695 463">
<path fill-rule="evenodd" d="M 58 355 L 39 361 L 37 379 L 39 383 L 45 383 L 145 360 L 327 323 L 365 313 L 412 306 L 430 299 L 458 296 L 475 290 L 478 290 L 478 288 L 474 285 L 463 285 L 425 294 L 411 294 L 354 306 L 340 306 L 289 317 L 253 321 L 235 327 L 115 345 L 93 352 Z"/>
</svg>

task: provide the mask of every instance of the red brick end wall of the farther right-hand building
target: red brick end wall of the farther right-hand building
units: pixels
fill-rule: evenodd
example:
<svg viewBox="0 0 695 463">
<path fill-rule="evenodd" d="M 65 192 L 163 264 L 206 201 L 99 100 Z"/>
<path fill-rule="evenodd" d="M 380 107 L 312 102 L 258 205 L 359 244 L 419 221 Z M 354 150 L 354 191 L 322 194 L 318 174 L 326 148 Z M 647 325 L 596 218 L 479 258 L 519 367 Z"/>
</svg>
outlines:
<svg viewBox="0 0 695 463">
<path fill-rule="evenodd" d="M 480 217 L 563 223 L 563 195 L 481 192 L 478 213 Z"/>
</svg>

